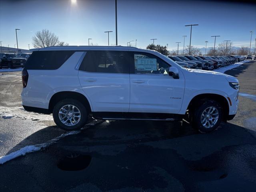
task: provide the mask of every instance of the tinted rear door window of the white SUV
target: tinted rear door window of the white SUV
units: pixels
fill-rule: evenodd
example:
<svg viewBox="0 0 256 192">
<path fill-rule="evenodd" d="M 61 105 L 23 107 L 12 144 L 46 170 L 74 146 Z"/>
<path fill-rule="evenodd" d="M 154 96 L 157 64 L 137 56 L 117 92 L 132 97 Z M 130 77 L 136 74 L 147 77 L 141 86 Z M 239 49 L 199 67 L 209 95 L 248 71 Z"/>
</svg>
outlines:
<svg viewBox="0 0 256 192">
<path fill-rule="evenodd" d="M 88 51 L 79 70 L 96 73 L 129 73 L 129 54 L 125 51 Z"/>
</svg>

